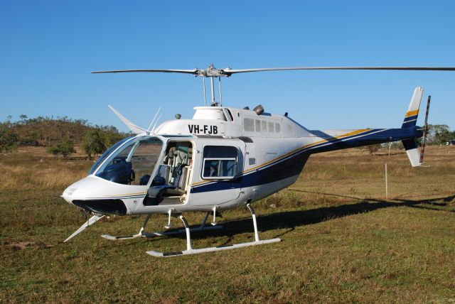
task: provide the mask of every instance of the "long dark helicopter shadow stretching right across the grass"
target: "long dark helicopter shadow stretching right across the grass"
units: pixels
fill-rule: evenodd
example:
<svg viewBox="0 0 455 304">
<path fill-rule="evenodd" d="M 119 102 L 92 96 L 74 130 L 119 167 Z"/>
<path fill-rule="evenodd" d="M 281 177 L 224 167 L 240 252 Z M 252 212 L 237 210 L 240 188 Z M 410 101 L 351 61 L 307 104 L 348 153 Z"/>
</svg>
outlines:
<svg viewBox="0 0 455 304">
<path fill-rule="evenodd" d="M 304 226 L 307 224 L 316 224 L 319 222 L 325 222 L 329 219 L 334 219 L 338 217 L 347 217 L 349 215 L 357 215 L 365 212 L 372 212 L 382 208 L 388 207 L 412 207 L 419 209 L 427 209 L 434 211 L 446 211 L 454 212 L 453 210 L 440 210 L 435 209 L 434 207 L 444 207 L 449 202 L 455 200 L 455 195 L 449 195 L 447 197 L 436 197 L 432 199 L 424 200 L 405 200 L 397 199 L 386 201 L 378 199 L 363 199 L 360 197 L 353 197 L 348 195 L 336 195 L 331 193 L 322 193 L 322 192 L 310 192 L 304 190 L 293 190 L 299 192 L 307 192 L 319 195 L 330 195 L 335 197 L 343 197 L 353 200 L 360 200 L 354 204 L 346 205 L 336 205 L 330 207 L 319 207 L 311 210 L 295 210 L 295 211 L 286 211 L 286 212 L 274 212 L 269 215 L 257 215 L 257 224 L 258 230 L 261 232 L 274 230 L 274 229 L 286 229 L 285 232 L 274 237 L 280 237 L 283 234 L 291 232 L 296 227 Z M 242 234 L 245 232 L 250 232 L 253 237 L 253 227 L 251 217 L 245 217 L 242 219 L 235 219 L 230 222 L 223 222 L 223 229 L 212 230 L 206 232 L 192 232 L 192 239 L 203 239 L 205 237 L 228 237 L 230 239 L 235 234 Z M 176 235 L 180 239 L 185 238 L 185 234 Z M 259 236 L 260 237 L 260 236 Z"/>
</svg>

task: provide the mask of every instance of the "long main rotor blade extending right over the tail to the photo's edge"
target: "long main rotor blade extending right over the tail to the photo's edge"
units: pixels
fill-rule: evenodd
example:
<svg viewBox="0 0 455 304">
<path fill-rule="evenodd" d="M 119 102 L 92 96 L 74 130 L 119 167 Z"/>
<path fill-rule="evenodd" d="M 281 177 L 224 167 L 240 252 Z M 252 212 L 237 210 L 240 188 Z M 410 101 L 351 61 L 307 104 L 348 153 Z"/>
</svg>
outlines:
<svg viewBox="0 0 455 304">
<path fill-rule="evenodd" d="M 266 67 L 258 69 L 223 69 L 223 74 L 232 75 L 246 72 L 267 72 L 287 70 L 411 70 L 411 71 L 455 71 L 455 67 Z"/>
</svg>

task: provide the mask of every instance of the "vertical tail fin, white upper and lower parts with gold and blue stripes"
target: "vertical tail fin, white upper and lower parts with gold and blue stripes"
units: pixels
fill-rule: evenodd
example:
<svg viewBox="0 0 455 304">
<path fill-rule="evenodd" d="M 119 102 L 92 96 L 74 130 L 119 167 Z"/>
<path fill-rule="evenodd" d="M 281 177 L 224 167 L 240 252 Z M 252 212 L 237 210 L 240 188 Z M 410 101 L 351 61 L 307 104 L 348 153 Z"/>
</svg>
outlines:
<svg viewBox="0 0 455 304">
<path fill-rule="evenodd" d="M 402 124 L 402 129 L 412 128 L 417 123 L 417 116 L 419 115 L 420 102 L 422 102 L 422 96 L 424 89 L 422 87 L 416 87 L 414 94 L 412 95 L 410 107 L 407 108 L 405 120 Z M 415 139 L 405 139 L 402 141 L 405 146 L 407 157 L 410 158 L 412 167 L 419 167 L 420 163 L 420 151 L 419 146 Z"/>
</svg>

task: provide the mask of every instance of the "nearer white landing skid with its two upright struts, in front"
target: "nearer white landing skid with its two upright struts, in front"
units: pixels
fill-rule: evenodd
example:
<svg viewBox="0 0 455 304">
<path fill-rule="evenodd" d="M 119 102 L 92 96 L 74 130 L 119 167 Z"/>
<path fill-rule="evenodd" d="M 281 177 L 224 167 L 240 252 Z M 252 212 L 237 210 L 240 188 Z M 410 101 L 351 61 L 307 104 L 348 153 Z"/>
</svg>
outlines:
<svg viewBox="0 0 455 304">
<path fill-rule="evenodd" d="M 178 218 L 181 219 L 183 225 L 185 225 L 185 232 L 186 232 L 186 250 L 184 251 L 173 251 L 173 252 L 159 252 L 159 251 L 146 251 L 147 254 L 151 256 L 157 257 L 168 257 L 168 256 L 183 256 L 188 254 L 202 254 L 204 252 L 213 252 L 213 251 L 222 251 L 222 250 L 230 250 L 235 248 L 247 247 L 247 246 L 255 246 L 255 245 L 262 245 L 262 244 L 269 244 L 269 243 L 277 243 L 281 241 L 281 239 L 266 239 L 263 241 L 259 240 L 259 234 L 257 233 L 257 223 L 256 223 L 256 215 L 255 210 L 251 207 L 250 204 L 247 204 L 248 209 L 251 212 L 252 219 L 253 219 L 253 226 L 255 227 L 255 241 L 249 241 L 247 243 L 235 244 L 235 245 L 228 245 L 228 246 L 218 246 L 218 247 L 208 247 L 208 248 L 201 248 L 201 249 L 193 249 L 191 247 L 191 229 L 188 227 L 188 222 L 186 222 L 185 217 L 180 215 Z M 215 226 L 216 227 L 216 226 Z"/>
</svg>

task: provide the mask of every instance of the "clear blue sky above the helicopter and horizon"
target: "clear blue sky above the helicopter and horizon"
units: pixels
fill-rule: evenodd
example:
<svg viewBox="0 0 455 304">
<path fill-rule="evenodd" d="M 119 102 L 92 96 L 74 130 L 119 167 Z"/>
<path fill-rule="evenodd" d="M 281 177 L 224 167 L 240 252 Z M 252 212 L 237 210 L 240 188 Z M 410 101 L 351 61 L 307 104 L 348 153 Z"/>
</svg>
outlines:
<svg viewBox="0 0 455 304">
<path fill-rule="evenodd" d="M 200 78 L 92 70 L 455 67 L 454 12 L 455 1 L 3 0 L 0 120 L 69 116 L 125 130 L 107 104 L 139 126 L 159 106 L 164 121 L 203 105 Z M 262 104 L 309 129 L 399 127 L 417 85 L 432 95 L 429 123 L 455 129 L 455 72 L 234 75 L 223 104 Z"/>
</svg>

